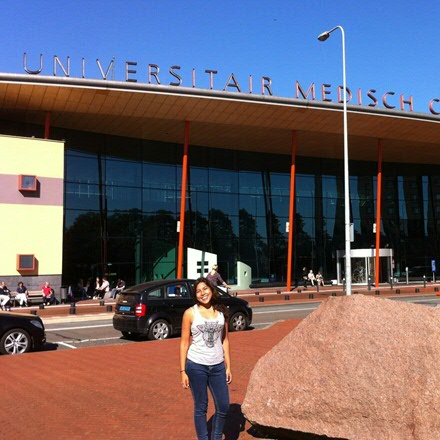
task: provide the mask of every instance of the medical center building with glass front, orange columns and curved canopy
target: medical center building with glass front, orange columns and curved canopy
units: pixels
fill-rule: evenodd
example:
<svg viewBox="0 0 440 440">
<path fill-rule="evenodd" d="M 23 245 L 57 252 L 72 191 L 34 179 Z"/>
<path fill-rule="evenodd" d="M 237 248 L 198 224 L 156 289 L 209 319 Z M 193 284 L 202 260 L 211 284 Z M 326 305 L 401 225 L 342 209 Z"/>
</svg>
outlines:
<svg viewBox="0 0 440 440">
<path fill-rule="evenodd" d="M 328 92 L 32 73 L 0 74 L 2 279 L 58 287 L 106 273 L 132 284 L 185 275 L 191 247 L 216 254 L 230 283 L 238 261 L 254 281 L 286 282 L 289 243 L 292 283 L 303 266 L 338 278 L 342 104 Z M 425 114 L 402 98 L 391 108 L 392 95 L 383 109 L 376 98 L 348 105 L 351 245 L 366 250 L 352 267 L 380 282 L 407 267 L 432 275 L 440 255 L 438 100 Z M 20 176 L 37 187 L 20 188 Z M 392 258 L 375 272 L 379 248 Z"/>
</svg>

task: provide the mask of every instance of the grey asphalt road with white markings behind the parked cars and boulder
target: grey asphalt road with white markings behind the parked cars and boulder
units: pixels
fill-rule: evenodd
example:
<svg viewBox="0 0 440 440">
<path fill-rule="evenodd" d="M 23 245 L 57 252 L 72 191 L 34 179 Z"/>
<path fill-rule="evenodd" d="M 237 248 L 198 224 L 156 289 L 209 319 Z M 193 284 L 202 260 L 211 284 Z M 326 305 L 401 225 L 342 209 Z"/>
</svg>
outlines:
<svg viewBox="0 0 440 440">
<path fill-rule="evenodd" d="M 427 297 L 398 297 L 396 301 L 406 301 L 427 306 L 439 306 L 440 298 Z M 253 308 L 252 329 L 266 328 L 276 321 L 291 318 L 305 318 L 317 309 L 320 302 L 267 305 Z M 55 321 L 55 322 L 54 322 Z M 120 332 L 113 329 L 112 314 L 76 318 L 74 321 L 65 322 L 55 319 L 45 320 L 47 348 L 49 350 L 72 350 L 84 347 L 112 344 L 133 344 L 121 337 Z"/>
</svg>

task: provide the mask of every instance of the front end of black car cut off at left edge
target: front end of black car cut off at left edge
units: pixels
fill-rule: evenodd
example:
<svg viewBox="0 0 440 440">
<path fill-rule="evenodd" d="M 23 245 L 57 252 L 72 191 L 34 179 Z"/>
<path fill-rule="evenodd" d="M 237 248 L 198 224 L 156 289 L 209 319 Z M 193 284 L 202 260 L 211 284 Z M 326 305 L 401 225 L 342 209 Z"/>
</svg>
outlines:
<svg viewBox="0 0 440 440">
<path fill-rule="evenodd" d="M 0 312 L 0 353 L 40 350 L 46 343 L 43 321 L 25 313 Z"/>
</svg>

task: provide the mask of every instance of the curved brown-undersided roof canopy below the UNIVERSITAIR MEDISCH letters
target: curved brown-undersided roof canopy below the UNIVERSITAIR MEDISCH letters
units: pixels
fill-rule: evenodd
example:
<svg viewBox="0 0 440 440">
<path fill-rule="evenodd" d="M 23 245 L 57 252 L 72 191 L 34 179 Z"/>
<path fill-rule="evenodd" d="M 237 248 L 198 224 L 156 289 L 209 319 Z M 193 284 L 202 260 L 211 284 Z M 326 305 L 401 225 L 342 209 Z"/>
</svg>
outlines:
<svg viewBox="0 0 440 440">
<path fill-rule="evenodd" d="M 0 117 L 190 145 L 343 158 L 342 104 L 123 81 L 0 74 Z M 440 117 L 348 106 L 350 159 L 440 163 Z"/>
</svg>

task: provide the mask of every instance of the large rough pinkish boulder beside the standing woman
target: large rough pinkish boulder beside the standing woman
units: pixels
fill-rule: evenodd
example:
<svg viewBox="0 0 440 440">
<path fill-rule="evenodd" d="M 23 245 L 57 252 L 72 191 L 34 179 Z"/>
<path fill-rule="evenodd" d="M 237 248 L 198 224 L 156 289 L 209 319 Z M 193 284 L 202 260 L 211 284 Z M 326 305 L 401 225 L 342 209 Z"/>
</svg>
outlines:
<svg viewBox="0 0 440 440">
<path fill-rule="evenodd" d="M 242 405 L 286 439 L 440 439 L 440 310 L 331 297 L 263 356 Z"/>
</svg>

